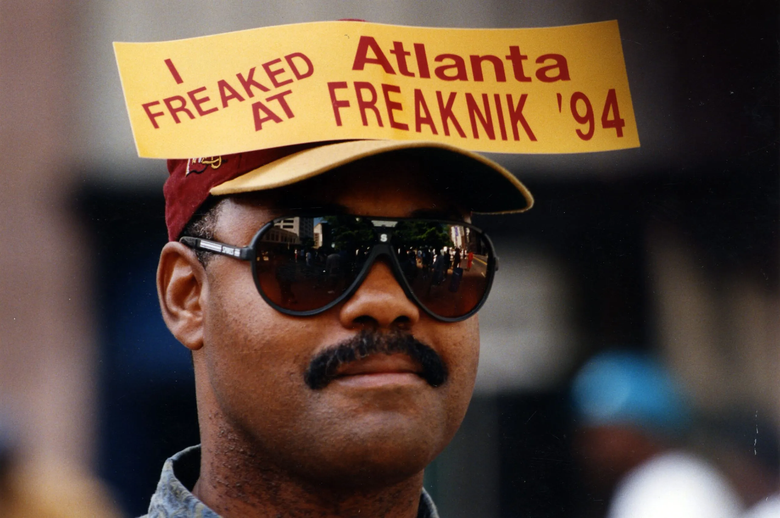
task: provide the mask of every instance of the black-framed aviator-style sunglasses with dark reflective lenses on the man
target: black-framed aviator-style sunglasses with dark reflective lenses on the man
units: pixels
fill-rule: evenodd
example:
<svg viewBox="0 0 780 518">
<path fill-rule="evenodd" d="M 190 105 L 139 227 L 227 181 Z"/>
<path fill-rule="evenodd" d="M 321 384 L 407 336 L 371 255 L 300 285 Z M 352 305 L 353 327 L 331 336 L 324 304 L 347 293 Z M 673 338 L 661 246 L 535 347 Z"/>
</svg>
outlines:
<svg viewBox="0 0 780 518">
<path fill-rule="evenodd" d="M 498 257 L 480 229 L 463 222 L 354 215 L 276 218 L 249 247 L 185 236 L 195 250 L 250 261 L 257 291 L 275 310 L 308 316 L 352 296 L 387 257 L 406 296 L 440 321 L 475 314 L 490 293 Z"/>
</svg>

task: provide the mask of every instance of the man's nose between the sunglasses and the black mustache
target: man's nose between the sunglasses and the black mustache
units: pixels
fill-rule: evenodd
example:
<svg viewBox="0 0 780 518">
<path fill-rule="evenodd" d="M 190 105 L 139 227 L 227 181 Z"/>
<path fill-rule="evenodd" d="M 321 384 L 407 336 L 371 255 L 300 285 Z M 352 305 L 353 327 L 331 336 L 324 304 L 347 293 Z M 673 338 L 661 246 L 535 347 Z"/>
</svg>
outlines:
<svg viewBox="0 0 780 518">
<path fill-rule="evenodd" d="M 366 279 L 344 303 L 339 318 L 346 328 L 408 329 L 420 320 L 420 310 L 395 280 L 387 259 L 371 265 Z"/>
</svg>

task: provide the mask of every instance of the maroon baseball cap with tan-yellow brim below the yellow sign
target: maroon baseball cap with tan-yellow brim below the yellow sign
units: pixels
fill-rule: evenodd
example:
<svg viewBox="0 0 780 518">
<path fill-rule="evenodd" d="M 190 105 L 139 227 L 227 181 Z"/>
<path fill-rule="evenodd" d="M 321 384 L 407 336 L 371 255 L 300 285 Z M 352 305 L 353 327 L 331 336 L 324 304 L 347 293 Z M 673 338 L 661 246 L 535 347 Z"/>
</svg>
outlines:
<svg viewBox="0 0 780 518">
<path fill-rule="evenodd" d="M 480 154 L 441 142 L 346 140 L 296 144 L 217 157 L 168 160 L 165 223 L 176 240 L 210 196 L 274 189 L 378 154 L 411 155 L 424 169 L 445 173 L 463 207 L 484 214 L 527 211 L 534 198 L 511 172 Z"/>
</svg>

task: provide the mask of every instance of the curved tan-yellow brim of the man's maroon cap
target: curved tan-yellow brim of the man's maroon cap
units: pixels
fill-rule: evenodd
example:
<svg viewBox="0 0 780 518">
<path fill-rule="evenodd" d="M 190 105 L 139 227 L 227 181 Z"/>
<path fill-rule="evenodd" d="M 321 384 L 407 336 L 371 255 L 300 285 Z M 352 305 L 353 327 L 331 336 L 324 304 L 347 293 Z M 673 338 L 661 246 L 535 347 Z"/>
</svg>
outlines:
<svg viewBox="0 0 780 518">
<path fill-rule="evenodd" d="M 421 158 L 448 161 L 448 171 L 461 179 L 473 179 L 466 190 L 474 212 L 511 214 L 534 205 L 534 197 L 523 183 L 495 161 L 449 144 L 401 140 L 349 140 L 325 144 L 290 154 L 253 171 L 212 187 L 215 196 L 274 189 L 321 175 L 341 165 L 392 151 L 417 150 Z M 430 155 L 430 157 L 428 157 Z M 453 178 L 455 179 L 455 178 Z"/>
</svg>

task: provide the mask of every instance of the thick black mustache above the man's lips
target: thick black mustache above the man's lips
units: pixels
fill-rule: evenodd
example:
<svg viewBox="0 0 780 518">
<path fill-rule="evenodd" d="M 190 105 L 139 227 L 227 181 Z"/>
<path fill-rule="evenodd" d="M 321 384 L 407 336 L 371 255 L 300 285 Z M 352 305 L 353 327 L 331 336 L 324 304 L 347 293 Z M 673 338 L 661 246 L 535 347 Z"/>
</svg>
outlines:
<svg viewBox="0 0 780 518">
<path fill-rule="evenodd" d="M 378 333 L 360 332 L 351 339 L 328 347 L 312 358 L 303 380 L 312 390 L 324 389 L 338 378 L 342 365 L 363 360 L 372 354 L 406 354 L 422 366 L 420 374 L 431 387 L 441 386 L 447 381 L 448 371 L 444 360 L 431 346 L 420 342 L 413 335 L 404 332 Z"/>
</svg>

